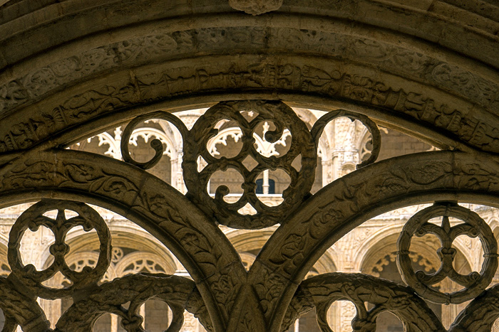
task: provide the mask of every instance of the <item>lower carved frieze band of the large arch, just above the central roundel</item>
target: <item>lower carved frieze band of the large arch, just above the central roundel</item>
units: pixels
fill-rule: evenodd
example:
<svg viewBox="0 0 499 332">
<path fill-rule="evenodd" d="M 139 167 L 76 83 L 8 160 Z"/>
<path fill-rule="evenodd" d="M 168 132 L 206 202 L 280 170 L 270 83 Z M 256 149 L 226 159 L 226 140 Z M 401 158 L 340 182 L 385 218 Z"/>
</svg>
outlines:
<svg viewBox="0 0 499 332">
<path fill-rule="evenodd" d="M 212 70 L 215 73 L 210 73 Z M 291 64 L 257 66 L 239 73 L 224 73 L 215 68 L 178 68 L 153 76 L 137 77 L 133 85 L 104 86 L 73 97 L 36 119 L 26 119 L 9 128 L 8 134 L 0 139 L 0 149 L 26 149 L 40 138 L 69 124 L 139 102 L 139 95 L 143 100 L 159 100 L 163 99 L 165 91 L 170 95 L 183 95 L 192 92 L 193 87 L 210 91 L 220 84 L 225 88 L 277 87 L 328 97 L 344 97 L 403 112 L 436 127 L 443 127 L 471 145 L 488 151 L 499 151 L 499 134 L 487 122 L 468 114 L 468 110 L 436 105 L 431 98 L 416 92 L 392 90 L 383 82 L 376 82 L 370 77 L 352 76 L 339 71 L 328 73 L 319 68 L 300 68 Z"/>
</svg>

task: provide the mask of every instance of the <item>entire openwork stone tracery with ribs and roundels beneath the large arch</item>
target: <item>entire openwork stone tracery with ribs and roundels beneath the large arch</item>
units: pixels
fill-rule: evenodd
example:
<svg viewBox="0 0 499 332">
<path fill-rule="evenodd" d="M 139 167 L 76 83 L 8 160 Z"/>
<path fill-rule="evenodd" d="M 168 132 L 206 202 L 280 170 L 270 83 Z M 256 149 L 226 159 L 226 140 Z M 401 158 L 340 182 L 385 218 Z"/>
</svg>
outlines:
<svg viewBox="0 0 499 332">
<path fill-rule="evenodd" d="M 248 119 L 243 115 L 245 111 L 257 115 Z M 319 136 L 326 124 L 337 117 L 358 119 L 366 125 L 373 141 L 371 156 L 357 166 L 359 169 L 312 196 Z M 130 156 L 128 144 L 133 129 L 149 119 L 170 122 L 182 136 L 185 196 L 145 171 L 162 158 L 161 141 L 150 141 L 155 150 L 150 161 L 138 162 Z M 220 120 L 235 122 L 241 129 L 242 148 L 231 158 L 212 156 L 208 149 L 210 139 L 218 134 L 215 127 Z M 255 148 L 254 131 L 265 122 L 274 124 L 274 129 L 264 134 L 266 141 L 278 141 L 284 131 L 289 132 L 291 143 L 286 154 L 262 156 Z M 128 332 L 144 331 L 139 309 L 148 299 L 165 301 L 172 310 L 168 332 L 180 331 L 185 310 L 210 332 L 279 332 L 286 331 L 300 315 L 312 309 L 317 311 L 321 331 L 331 331 L 327 311 L 339 300 L 355 305 L 354 331 L 376 331 L 376 318 L 384 311 L 396 314 L 406 331 L 446 331 L 424 300 L 473 300 L 448 331 L 490 331 L 499 318 L 499 288 L 487 289 L 498 266 L 497 243 L 487 223 L 456 203 L 436 203 L 421 210 L 403 228 L 398 240 L 398 267 L 407 286 L 365 274 L 319 274 L 303 280 L 317 260 L 311 257 L 320 257 L 322 247 L 330 247 L 334 242 L 331 239 L 366 221 L 363 213 L 369 215 L 388 205 L 393 208 L 394 202 L 408 205 L 409 198 L 422 195 L 430 195 L 425 200 L 434 200 L 437 196 L 457 197 L 461 191 L 490 197 L 499 193 L 495 159 L 459 151 L 431 151 L 374 163 L 381 148 L 380 138 L 371 119 L 353 112 L 329 112 L 309 130 L 284 102 L 220 102 L 208 109 L 192 129 L 168 112 L 136 117 L 123 131 L 124 162 L 83 151 L 50 149 L 34 150 L 21 161 L 2 166 L 0 190 L 6 199 L 16 194 L 23 195 L 22 200 L 64 198 L 40 200 L 22 213 L 11 229 L 11 273 L 0 277 L 0 309 L 6 316 L 3 331 L 15 331 L 18 325 L 24 331 L 91 331 L 93 323 L 105 313 L 120 316 Z M 248 156 L 257 161 L 252 169 L 243 164 Z M 301 156 L 298 169 L 292 166 L 297 156 Z M 206 161 L 201 170 L 197 165 L 200 157 Z M 207 193 L 212 173 L 227 168 L 235 169 L 244 178 L 244 192 L 236 203 L 223 200 L 227 195 L 223 186 L 217 188 L 214 198 Z M 269 207 L 259 203 L 255 180 L 265 169 L 277 168 L 289 175 L 291 183 L 283 193 L 283 202 Z M 465 194 L 464 198 L 469 197 Z M 148 270 L 154 273 L 132 274 L 101 283 L 106 269 L 123 252 L 113 251 L 106 223 L 82 201 L 101 203 L 148 227 L 151 234 L 178 255 L 193 280 L 155 273 L 158 270 L 151 266 Z M 239 213 L 246 203 L 257 213 Z M 53 210 L 57 211 L 56 217 L 48 217 L 46 213 Z M 76 216 L 67 218 L 68 210 Z M 441 225 L 428 222 L 436 217 L 443 217 Z M 453 221 L 451 227 L 449 218 L 462 223 Z M 280 225 L 247 272 L 218 224 L 247 230 Z M 50 246 L 54 259 L 50 266 L 38 271 L 23 264 L 19 246 L 26 230 L 41 226 L 48 227 L 55 237 Z M 96 230 L 100 247 L 95 265 L 73 270 L 66 262 L 69 247 L 65 240 L 67 232 L 78 226 L 85 231 Z M 411 237 L 428 232 L 436 235 L 442 245 L 438 250 L 441 267 L 429 275 L 414 272 L 408 256 Z M 480 273 L 461 275 L 453 269 L 452 242 L 460 235 L 480 239 L 485 253 Z M 68 284 L 51 288 L 46 281 L 58 272 Z M 463 289 L 445 294 L 432 287 L 446 277 L 463 285 Z M 37 297 L 73 299 L 55 330 L 51 330 Z M 127 302 L 130 305 L 125 308 Z M 367 309 L 366 303 L 372 305 L 371 309 Z M 480 329 L 473 329 L 476 321 L 480 321 Z"/>
</svg>

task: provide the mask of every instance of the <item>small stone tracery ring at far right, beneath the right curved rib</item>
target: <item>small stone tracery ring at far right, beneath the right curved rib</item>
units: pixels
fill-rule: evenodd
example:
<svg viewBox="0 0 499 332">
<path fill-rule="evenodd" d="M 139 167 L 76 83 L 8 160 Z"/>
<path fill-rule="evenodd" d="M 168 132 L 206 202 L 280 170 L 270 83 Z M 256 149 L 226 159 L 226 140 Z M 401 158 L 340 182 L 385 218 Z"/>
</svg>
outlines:
<svg viewBox="0 0 499 332">
<path fill-rule="evenodd" d="M 441 226 L 428 223 L 428 220 L 436 217 L 443 218 Z M 449 217 L 457 218 L 464 223 L 451 227 Z M 441 267 L 433 274 L 414 272 L 409 257 L 411 239 L 413 235 L 421 237 L 430 233 L 436 235 L 442 244 L 437 251 L 442 262 Z M 456 249 L 452 247 L 452 242 L 460 235 L 479 237 L 485 258 L 480 273 L 471 272 L 463 275 L 454 269 L 453 259 Z M 398 237 L 397 250 L 397 267 L 404 282 L 424 299 L 439 304 L 461 304 L 474 299 L 488 287 L 498 267 L 498 245 L 490 227 L 477 213 L 453 203 L 435 204 L 413 215 Z M 449 294 L 430 287 L 446 277 L 465 288 Z"/>
</svg>

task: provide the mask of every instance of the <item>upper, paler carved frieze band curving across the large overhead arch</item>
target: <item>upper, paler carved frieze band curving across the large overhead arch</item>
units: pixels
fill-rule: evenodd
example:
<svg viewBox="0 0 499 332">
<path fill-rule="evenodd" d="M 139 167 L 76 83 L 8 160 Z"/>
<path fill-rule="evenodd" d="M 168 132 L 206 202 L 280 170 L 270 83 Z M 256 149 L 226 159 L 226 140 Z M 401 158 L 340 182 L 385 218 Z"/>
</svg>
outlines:
<svg viewBox="0 0 499 332">
<path fill-rule="evenodd" d="M 369 38 L 352 41 L 351 36 L 341 33 L 295 28 L 272 28 L 269 35 L 271 47 L 287 48 L 292 44 L 295 50 L 319 51 L 351 59 L 361 58 L 400 73 L 411 73 L 421 80 L 443 85 L 448 90 L 457 90 L 463 96 L 478 100 L 480 105 L 485 107 L 497 106 L 499 102 L 497 82 L 400 45 Z M 103 45 L 5 83 L 0 87 L 0 110 L 36 100 L 58 86 L 110 68 L 146 63 L 149 60 L 205 47 L 220 48 L 235 43 L 238 47 L 261 47 L 264 38 L 266 37 L 262 28 L 200 28 L 159 33 Z M 299 43 L 294 43 L 295 41 Z"/>
</svg>

